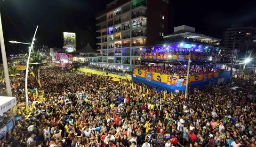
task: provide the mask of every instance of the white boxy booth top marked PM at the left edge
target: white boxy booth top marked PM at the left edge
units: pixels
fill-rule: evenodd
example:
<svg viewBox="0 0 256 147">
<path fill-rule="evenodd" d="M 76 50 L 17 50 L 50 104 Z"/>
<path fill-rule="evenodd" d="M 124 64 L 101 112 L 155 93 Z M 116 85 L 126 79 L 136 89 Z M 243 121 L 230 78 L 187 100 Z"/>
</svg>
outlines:
<svg viewBox="0 0 256 147">
<path fill-rule="evenodd" d="M 16 97 L 0 96 L 0 115 L 16 106 Z"/>
</svg>

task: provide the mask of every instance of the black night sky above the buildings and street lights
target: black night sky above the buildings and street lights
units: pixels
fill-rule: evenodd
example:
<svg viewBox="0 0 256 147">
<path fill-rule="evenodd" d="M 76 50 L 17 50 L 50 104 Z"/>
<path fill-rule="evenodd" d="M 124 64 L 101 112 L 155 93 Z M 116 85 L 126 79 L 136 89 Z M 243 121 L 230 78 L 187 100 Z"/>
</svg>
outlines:
<svg viewBox="0 0 256 147">
<path fill-rule="evenodd" d="M 74 32 L 74 28 L 77 28 L 86 34 L 81 46 L 87 43 L 95 46 L 95 15 L 111 1 L 1 0 L 0 12 L 7 54 L 19 53 L 22 49 L 27 52 L 28 45 L 10 44 L 8 40 L 26 42 L 25 38 L 31 41 L 36 25 L 39 25 L 39 29 L 35 45 L 62 47 L 62 32 Z M 256 0 L 239 3 L 234 0 L 169 1 L 174 4 L 174 26 L 192 26 L 196 32 L 218 38 L 222 38 L 223 31 L 232 24 L 256 26 Z"/>
</svg>

